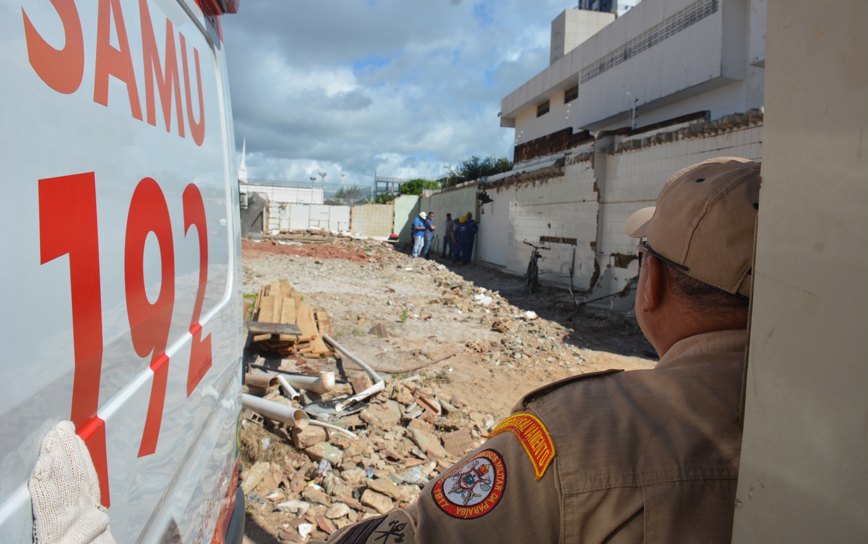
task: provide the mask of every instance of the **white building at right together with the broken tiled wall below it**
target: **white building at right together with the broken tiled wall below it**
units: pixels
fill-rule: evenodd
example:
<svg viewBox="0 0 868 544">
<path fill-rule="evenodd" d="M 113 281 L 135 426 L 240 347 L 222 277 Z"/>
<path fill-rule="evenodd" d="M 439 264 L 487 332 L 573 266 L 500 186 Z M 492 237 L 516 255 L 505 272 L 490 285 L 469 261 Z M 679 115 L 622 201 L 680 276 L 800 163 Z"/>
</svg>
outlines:
<svg viewBox="0 0 868 544">
<path fill-rule="evenodd" d="M 501 103 L 515 168 L 481 183 L 495 202 L 479 258 L 523 273 L 523 240 L 549 242 L 544 281 L 629 289 L 628 216 L 689 164 L 762 156 L 765 14 L 765 0 L 644 0 L 556 17 L 549 67 Z"/>
</svg>

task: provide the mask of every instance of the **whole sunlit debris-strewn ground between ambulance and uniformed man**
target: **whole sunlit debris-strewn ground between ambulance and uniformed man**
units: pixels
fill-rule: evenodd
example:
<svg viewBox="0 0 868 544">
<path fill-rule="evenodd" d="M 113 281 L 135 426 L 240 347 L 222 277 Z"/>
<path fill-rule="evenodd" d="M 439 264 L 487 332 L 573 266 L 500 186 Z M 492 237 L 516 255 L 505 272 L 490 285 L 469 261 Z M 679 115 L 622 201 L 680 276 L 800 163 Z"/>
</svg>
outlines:
<svg viewBox="0 0 868 544">
<path fill-rule="evenodd" d="M 261 245 L 257 250 L 268 255 L 262 262 L 273 269 L 260 275 L 245 262 L 247 284 L 279 275 L 319 276 L 299 281 L 306 295 L 286 281 L 269 283 L 259 289 L 258 308 L 248 318 L 267 314 L 266 299 L 273 304 L 272 293 L 278 293 L 278 321 L 290 319 L 294 308 L 296 326 L 307 328 L 304 319 L 299 325 L 300 305 L 286 298 L 304 302 L 312 308 L 307 321 L 317 327 L 306 332 L 318 335 L 324 346 L 319 349 L 327 349 L 315 352 L 312 340 L 301 338 L 293 342 L 292 354 L 247 346 L 248 372 L 259 376 L 255 384 L 248 381 L 245 393 L 300 408 L 310 418 L 305 428 L 293 428 L 247 409 L 241 421 L 241 487 L 248 514 L 275 541 L 325 541 L 340 527 L 411 505 L 429 481 L 483 444 L 521 391 L 598 369 L 579 367 L 595 355 L 564 341 L 573 331 L 549 321 L 551 307 L 531 306 L 541 315 L 523 307 L 523 289 L 512 294 L 496 283 L 503 291 L 482 289 L 442 264 L 411 259 L 375 241 L 330 237 Z M 523 287 L 523 280 L 518 282 Z M 255 288 L 246 290 L 252 299 Z M 320 314 L 319 305 L 331 316 L 325 309 Z M 569 302 L 569 311 L 573 308 Z M 595 311 L 570 315 L 570 322 Z M 271 319 L 276 315 L 272 306 Z M 330 324 L 327 331 L 320 329 L 326 319 L 333 320 L 333 332 Z M 592 326 L 623 330 L 624 320 L 618 320 Z M 262 323 L 254 329 L 270 330 Z M 260 342 L 291 342 L 278 333 L 258 334 L 269 335 Z M 602 368 L 615 367 L 623 368 L 619 363 Z M 332 388 L 296 387 L 321 373 L 332 373 Z M 271 375 L 283 376 L 291 387 Z M 460 380 L 468 385 L 456 388 Z M 350 402 L 356 395 L 361 398 Z"/>
</svg>

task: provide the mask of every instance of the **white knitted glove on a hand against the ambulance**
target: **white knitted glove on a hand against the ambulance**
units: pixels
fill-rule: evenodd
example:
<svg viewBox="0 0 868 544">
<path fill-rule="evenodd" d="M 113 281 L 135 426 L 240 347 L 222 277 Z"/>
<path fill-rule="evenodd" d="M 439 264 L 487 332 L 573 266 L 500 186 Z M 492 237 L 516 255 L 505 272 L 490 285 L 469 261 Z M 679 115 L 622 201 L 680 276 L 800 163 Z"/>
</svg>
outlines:
<svg viewBox="0 0 868 544">
<path fill-rule="evenodd" d="M 36 544 L 115 544 L 94 462 L 72 421 L 45 436 L 27 487 Z"/>
</svg>

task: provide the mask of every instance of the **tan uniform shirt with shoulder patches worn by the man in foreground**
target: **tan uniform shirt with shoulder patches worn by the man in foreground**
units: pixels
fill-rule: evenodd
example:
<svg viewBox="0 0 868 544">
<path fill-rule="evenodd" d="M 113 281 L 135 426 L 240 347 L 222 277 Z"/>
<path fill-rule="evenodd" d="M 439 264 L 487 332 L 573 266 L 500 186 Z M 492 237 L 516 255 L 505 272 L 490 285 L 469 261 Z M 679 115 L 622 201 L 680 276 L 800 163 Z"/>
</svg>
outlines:
<svg viewBox="0 0 868 544">
<path fill-rule="evenodd" d="M 745 342 L 744 330 L 695 335 L 653 369 L 537 389 L 513 408 L 513 430 L 428 482 L 416 504 L 329 542 L 728 543 Z"/>
</svg>

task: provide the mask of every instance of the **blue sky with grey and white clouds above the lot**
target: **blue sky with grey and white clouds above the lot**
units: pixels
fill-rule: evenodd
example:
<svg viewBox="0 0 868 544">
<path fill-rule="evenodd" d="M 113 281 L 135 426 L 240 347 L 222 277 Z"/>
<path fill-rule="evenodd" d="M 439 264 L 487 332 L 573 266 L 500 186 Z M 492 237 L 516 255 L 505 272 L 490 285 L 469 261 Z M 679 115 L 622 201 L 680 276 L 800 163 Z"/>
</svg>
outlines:
<svg viewBox="0 0 868 544">
<path fill-rule="evenodd" d="M 246 0 L 223 17 L 249 178 L 371 185 L 512 155 L 500 100 L 575 0 Z M 341 177 L 344 174 L 345 177 Z"/>
</svg>

